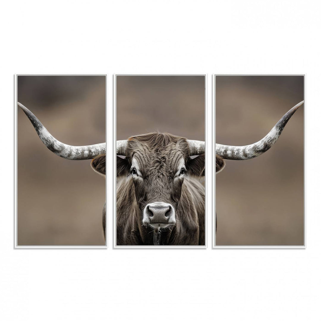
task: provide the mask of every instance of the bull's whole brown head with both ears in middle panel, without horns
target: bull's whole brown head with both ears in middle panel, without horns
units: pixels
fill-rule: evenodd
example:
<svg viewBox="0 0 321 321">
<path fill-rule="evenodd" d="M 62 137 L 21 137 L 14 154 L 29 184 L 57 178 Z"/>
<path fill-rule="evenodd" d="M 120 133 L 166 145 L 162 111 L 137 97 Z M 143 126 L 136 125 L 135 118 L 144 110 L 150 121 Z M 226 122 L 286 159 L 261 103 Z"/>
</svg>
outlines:
<svg viewBox="0 0 321 321">
<path fill-rule="evenodd" d="M 185 138 L 154 133 L 131 137 L 126 158 L 117 157 L 117 176 L 132 179 L 142 224 L 155 232 L 176 224 L 184 179 L 204 175 L 204 153 L 189 156 Z"/>
</svg>

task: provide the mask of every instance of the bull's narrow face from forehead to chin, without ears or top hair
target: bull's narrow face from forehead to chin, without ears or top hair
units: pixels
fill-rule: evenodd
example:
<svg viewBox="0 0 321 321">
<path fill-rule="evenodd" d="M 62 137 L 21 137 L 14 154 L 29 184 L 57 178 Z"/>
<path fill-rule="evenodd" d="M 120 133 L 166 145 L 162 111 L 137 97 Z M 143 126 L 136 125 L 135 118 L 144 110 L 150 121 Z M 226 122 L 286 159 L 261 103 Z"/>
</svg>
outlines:
<svg viewBox="0 0 321 321">
<path fill-rule="evenodd" d="M 136 152 L 130 172 L 136 200 L 143 213 L 143 224 L 154 229 L 175 224 L 175 210 L 186 172 L 184 156 L 179 148 L 170 144 L 147 157 Z"/>
</svg>

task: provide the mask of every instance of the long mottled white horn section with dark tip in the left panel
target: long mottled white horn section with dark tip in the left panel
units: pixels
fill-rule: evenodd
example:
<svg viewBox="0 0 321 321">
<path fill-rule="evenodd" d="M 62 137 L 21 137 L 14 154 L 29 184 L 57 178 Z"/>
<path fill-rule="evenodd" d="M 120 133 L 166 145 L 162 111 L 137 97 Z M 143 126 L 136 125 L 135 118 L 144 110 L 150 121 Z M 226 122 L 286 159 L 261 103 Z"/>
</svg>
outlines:
<svg viewBox="0 0 321 321">
<path fill-rule="evenodd" d="M 38 118 L 25 106 L 18 102 L 18 106 L 29 118 L 41 141 L 56 155 L 68 160 L 89 160 L 98 155 L 106 154 L 106 143 L 87 146 L 71 146 L 56 140 L 40 123 Z"/>
</svg>

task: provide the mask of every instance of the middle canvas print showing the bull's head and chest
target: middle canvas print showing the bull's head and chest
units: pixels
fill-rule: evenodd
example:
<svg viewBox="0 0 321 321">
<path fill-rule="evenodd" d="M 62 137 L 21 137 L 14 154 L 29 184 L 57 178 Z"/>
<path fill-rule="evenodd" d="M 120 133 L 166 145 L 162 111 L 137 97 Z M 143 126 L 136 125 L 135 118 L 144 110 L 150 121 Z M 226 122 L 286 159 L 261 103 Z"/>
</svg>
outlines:
<svg viewBox="0 0 321 321">
<path fill-rule="evenodd" d="M 205 75 L 116 75 L 117 246 L 205 245 Z"/>
</svg>

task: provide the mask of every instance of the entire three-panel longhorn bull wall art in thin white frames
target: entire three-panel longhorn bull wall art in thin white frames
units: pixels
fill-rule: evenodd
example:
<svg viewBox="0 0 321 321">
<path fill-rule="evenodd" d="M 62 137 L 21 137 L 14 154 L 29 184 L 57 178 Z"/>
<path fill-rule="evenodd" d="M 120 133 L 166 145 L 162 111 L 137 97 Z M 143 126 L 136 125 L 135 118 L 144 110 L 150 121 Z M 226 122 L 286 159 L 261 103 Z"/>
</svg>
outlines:
<svg viewBox="0 0 321 321">
<path fill-rule="evenodd" d="M 304 75 L 113 81 L 16 75 L 16 248 L 305 247 Z"/>
</svg>

